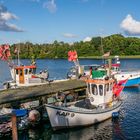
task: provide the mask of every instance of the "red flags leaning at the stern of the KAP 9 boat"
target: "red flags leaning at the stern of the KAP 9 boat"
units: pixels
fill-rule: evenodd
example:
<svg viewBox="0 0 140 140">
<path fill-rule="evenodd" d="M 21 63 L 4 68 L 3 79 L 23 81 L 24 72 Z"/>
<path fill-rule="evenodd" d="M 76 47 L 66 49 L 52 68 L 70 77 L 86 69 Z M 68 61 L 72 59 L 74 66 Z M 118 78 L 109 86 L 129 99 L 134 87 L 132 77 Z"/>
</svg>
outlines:
<svg viewBox="0 0 140 140">
<path fill-rule="evenodd" d="M 118 97 L 120 95 L 120 93 L 122 92 L 122 90 L 124 89 L 124 86 L 126 84 L 128 79 L 125 80 L 120 80 L 117 83 L 114 84 L 113 86 L 113 93 L 116 97 Z"/>
</svg>

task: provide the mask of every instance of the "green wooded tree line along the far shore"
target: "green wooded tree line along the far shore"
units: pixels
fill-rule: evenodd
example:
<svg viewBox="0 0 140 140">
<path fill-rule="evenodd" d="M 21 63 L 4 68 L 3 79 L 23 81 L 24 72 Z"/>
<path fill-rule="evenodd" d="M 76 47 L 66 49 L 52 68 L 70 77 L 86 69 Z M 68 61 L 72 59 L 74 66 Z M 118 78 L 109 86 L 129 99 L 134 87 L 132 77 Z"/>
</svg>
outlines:
<svg viewBox="0 0 140 140">
<path fill-rule="evenodd" d="M 76 50 L 78 57 L 92 58 L 102 56 L 110 51 L 112 56 L 140 55 L 140 39 L 113 34 L 107 37 L 93 37 L 88 42 L 74 42 L 73 44 L 54 41 L 52 44 L 33 44 L 31 42 L 11 45 L 12 57 L 16 58 L 14 50 L 19 48 L 20 58 L 67 58 L 69 50 Z"/>
</svg>

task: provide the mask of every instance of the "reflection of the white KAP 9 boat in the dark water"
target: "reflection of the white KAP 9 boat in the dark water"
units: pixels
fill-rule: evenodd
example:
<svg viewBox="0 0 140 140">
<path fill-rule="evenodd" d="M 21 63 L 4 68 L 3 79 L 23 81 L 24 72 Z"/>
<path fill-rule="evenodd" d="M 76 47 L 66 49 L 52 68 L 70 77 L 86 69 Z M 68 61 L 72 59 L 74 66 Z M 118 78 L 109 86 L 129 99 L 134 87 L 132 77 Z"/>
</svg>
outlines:
<svg viewBox="0 0 140 140">
<path fill-rule="evenodd" d="M 118 132 L 121 134 L 121 128 L 118 121 L 112 123 L 112 120 L 109 119 L 100 124 L 96 124 L 86 128 L 55 132 L 51 135 L 51 140 L 112 140 L 116 136 L 118 137 Z M 114 138 L 113 133 L 117 134 L 114 135 Z"/>
</svg>

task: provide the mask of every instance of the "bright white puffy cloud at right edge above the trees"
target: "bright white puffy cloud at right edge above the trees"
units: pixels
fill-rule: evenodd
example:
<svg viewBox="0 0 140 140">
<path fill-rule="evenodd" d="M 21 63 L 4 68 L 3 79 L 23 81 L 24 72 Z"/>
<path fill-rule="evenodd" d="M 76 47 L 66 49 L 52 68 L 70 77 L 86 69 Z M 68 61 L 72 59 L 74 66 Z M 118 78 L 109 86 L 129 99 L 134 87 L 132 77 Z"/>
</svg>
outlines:
<svg viewBox="0 0 140 140">
<path fill-rule="evenodd" d="M 131 15 L 126 16 L 120 27 L 127 35 L 140 35 L 140 21 L 136 21 Z"/>
</svg>

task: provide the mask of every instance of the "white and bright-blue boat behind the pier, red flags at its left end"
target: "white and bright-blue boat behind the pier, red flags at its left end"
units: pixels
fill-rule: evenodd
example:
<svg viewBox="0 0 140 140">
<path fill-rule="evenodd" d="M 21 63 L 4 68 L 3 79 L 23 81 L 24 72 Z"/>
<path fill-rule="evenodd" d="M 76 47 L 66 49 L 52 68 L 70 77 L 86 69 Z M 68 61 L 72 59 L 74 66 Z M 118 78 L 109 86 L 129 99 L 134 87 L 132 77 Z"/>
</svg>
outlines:
<svg viewBox="0 0 140 140">
<path fill-rule="evenodd" d="M 77 54 L 71 54 L 73 56 L 69 56 L 68 60 L 73 61 L 75 66 L 70 69 L 67 73 L 67 78 L 75 79 L 75 78 L 82 78 L 83 77 L 90 77 L 91 70 L 98 69 L 98 70 L 108 70 L 109 65 L 108 62 L 105 61 L 103 65 L 97 64 L 90 64 L 90 65 L 80 65 L 78 61 Z M 76 57 L 75 57 L 76 56 Z M 114 63 L 111 64 L 111 75 L 117 80 L 127 80 L 125 87 L 135 87 L 140 85 L 140 71 L 123 71 L 120 69 L 120 59 L 119 56 L 114 57 Z"/>
</svg>

